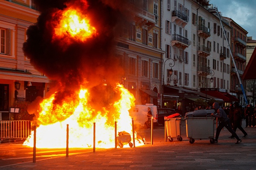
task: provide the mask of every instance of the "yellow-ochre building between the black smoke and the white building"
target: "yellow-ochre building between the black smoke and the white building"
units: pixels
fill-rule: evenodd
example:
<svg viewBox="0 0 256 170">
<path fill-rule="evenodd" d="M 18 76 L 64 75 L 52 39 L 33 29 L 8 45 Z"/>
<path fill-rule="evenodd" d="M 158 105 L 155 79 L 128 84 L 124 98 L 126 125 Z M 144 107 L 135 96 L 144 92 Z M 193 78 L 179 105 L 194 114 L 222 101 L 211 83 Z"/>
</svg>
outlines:
<svg viewBox="0 0 256 170">
<path fill-rule="evenodd" d="M 136 98 L 136 104 L 159 105 L 161 91 L 161 1 L 131 1 L 131 23 L 124 25 L 117 41 L 116 54 L 122 58 L 124 73 L 120 80 Z"/>
</svg>

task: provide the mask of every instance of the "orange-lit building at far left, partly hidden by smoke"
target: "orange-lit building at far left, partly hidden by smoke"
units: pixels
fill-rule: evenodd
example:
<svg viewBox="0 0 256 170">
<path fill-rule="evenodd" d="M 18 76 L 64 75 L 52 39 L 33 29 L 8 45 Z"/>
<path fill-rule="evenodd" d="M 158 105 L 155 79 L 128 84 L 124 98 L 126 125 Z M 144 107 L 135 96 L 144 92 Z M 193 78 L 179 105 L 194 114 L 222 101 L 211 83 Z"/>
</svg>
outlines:
<svg viewBox="0 0 256 170">
<path fill-rule="evenodd" d="M 10 120 L 14 101 L 35 100 L 47 93 L 49 79 L 24 56 L 26 31 L 37 22 L 33 0 L 0 0 L 0 120 Z"/>
</svg>

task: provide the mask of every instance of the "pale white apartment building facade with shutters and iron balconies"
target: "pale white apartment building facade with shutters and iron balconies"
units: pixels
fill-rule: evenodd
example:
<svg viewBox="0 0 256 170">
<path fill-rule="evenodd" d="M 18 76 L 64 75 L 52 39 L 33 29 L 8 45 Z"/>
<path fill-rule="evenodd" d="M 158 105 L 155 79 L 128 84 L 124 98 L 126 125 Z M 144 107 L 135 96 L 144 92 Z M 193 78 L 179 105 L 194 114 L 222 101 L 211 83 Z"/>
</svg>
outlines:
<svg viewBox="0 0 256 170">
<path fill-rule="evenodd" d="M 215 6 L 208 0 L 163 0 L 162 11 L 162 107 L 186 110 L 199 98 L 229 102 L 230 52 Z M 225 32 L 230 42 L 229 25 Z"/>
</svg>

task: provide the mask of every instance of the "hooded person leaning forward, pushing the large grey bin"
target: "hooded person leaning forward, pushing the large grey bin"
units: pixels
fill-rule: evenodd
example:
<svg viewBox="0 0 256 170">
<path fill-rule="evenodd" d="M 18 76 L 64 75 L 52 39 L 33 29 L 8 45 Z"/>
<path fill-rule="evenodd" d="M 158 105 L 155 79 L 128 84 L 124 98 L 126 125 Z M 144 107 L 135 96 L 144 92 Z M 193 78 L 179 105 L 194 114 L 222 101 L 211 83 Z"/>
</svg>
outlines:
<svg viewBox="0 0 256 170">
<path fill-rule="evenodd" d="M 217 114 L 215 115 L 214 113 L 212 113 L 211 115 L 219 119 L 219 126 L 216 129 L 215 143 L 218 143 L 219 134 L 223 127 L 226 127 L 228 131 L 237 139 L 237 142 L 235 144 L 241 143 L 242 140 L 240 140 L 237 134 L 232 130 L 230 120 L 225 111 L 219 106 L 219 103 L 215 102 L 213 103 L 212 106 L 213 109 L 215 109 L 215 111 L 217 112 Z"/>
</svg>

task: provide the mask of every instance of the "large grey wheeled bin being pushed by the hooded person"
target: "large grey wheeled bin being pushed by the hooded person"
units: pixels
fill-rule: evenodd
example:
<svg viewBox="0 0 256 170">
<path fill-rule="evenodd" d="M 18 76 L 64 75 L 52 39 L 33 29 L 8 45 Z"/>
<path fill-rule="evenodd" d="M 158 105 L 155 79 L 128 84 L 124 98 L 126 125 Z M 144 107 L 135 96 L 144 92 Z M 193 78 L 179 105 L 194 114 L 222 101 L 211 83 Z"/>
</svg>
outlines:
<svg viewBox="0 0 256 170">
<path fill-rule="evenodd" d="M 214 113 L 213 109 L 195 110 L 185 114 L 187 138 L 189 143 L 194 143 L 195 139 L 210 139 L 214 143 Z"/>
</svg>

